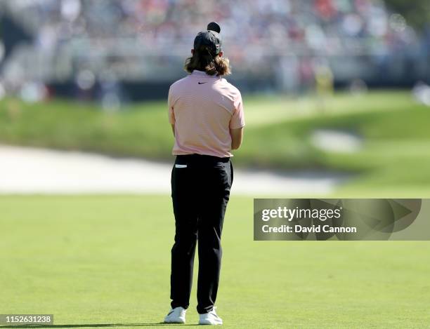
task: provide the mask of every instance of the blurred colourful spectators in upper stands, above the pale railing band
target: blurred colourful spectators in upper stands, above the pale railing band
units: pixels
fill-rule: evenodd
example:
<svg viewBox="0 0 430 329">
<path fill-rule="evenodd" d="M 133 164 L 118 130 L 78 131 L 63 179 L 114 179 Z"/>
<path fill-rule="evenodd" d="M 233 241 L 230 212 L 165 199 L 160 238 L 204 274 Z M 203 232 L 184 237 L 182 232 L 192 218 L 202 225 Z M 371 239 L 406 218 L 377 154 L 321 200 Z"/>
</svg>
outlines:
<svg viewBox="0 0 430 329">
<path fill-rule="evenodd" d="M 401 15 L 374 0 L 10 0 L 31 21 L 39 46 L 73 38 L 140 39 L 148 48 L 191 46 L 207 22 L 221 23 L 231 53 L 389 51 L 413 39 Z M 245 56 L 246 57 L 246 56 Z"/>
</svg>

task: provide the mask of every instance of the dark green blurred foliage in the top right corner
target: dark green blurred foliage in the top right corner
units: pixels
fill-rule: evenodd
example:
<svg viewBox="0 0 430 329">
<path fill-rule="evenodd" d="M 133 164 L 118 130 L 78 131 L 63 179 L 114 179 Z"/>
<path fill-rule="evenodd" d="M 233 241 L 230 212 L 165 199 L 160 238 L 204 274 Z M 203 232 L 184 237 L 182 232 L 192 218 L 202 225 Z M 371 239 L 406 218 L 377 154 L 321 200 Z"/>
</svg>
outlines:
<svg viewBox="0 0 430 329">
<path fill-rule="evenodd" d="M 418 30 L 430 25 L 430 1 L 429 0 L 385 0 L 392 11 L 403 15 L 408 25 Z"/>
</svg>

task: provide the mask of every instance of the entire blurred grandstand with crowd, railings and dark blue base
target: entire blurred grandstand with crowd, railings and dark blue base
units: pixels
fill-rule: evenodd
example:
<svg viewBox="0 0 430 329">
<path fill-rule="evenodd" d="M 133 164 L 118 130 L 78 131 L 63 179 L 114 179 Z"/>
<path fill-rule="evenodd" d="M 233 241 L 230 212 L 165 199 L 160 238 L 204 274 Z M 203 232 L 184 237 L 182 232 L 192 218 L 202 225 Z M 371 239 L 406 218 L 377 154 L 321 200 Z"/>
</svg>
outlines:
<svg viewBox="0 0 430 329">
<path fill-rule="evenodd" d="M 245 91 L 301 93 L 321 63 L 335 86 L 412 86 L 430 76 L 429 38 L 383 1 L 4 0 L 0 11 L 10 93 L 44 83 L 85 99 L 164 97 L 211 20 Z"/>
</svg>

